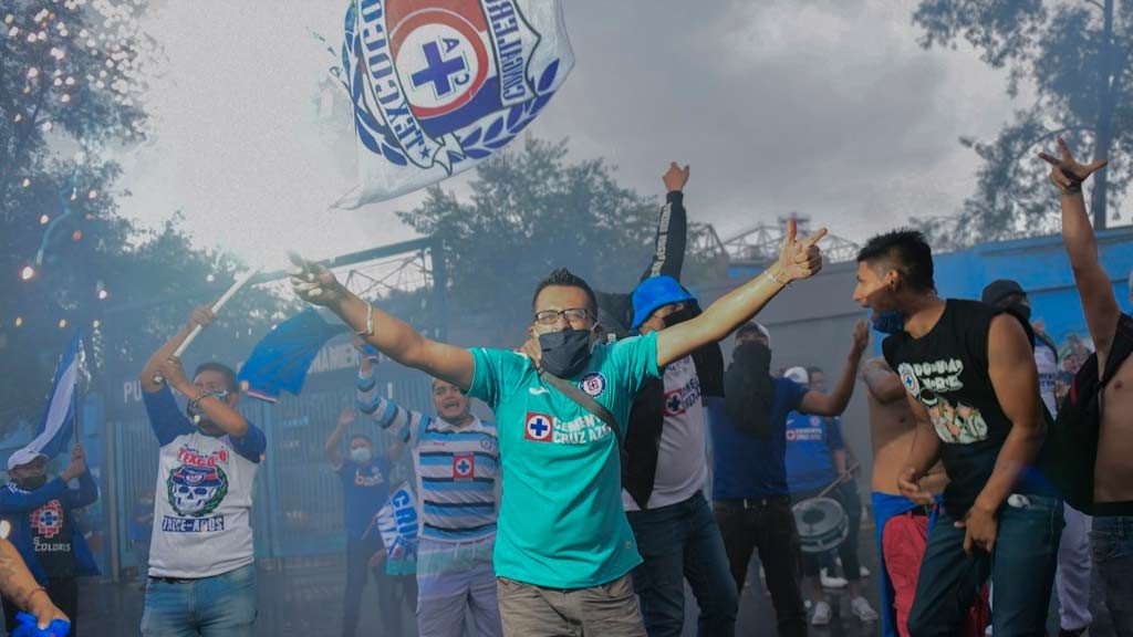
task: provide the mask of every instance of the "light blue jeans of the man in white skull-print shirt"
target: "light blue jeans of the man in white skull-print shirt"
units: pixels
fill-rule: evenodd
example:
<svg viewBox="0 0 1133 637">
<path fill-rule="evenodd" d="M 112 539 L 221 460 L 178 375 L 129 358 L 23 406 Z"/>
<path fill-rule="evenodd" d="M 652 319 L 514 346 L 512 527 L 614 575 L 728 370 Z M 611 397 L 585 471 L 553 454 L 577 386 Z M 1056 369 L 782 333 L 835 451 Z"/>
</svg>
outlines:
<svg viewBox="0 0 1133 637">
<path fill-rule="evenodd" d="M 252 637 L 256 564 L 201 579 L 151 577 L 142 613 L 144 637 Z"/>
</svg>

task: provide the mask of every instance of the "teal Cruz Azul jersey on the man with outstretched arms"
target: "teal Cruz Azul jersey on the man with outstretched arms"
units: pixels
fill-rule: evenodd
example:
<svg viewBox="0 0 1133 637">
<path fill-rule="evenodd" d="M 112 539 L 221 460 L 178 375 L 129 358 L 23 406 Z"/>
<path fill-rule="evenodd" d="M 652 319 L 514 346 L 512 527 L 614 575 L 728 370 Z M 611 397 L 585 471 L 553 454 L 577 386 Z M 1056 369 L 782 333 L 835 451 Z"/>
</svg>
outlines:
<svg viewBox="0 0 1133 637">
<path fill-rule="evenodd" d="M 474 349 L 469 394 L 496 415 L 503 496 L 495 546 L 499 577 L 554 588 L 612 581 L 641 562 L 622 508 L 617 438 L 562 394 L 520 354 Z M 568 379 L 625 432 L 633 396 L 657 377 L 657 334 L 595 348 Z"/>
</svg>

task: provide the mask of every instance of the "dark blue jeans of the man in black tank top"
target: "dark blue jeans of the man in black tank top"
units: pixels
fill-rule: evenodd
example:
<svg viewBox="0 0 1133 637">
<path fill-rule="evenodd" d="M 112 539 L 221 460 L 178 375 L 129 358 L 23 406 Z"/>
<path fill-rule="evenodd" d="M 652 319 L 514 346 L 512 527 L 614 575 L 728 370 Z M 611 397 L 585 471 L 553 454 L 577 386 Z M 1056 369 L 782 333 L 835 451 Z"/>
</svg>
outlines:
<svg viewBox="0 0 1133 637">
<path fill-rule="evenodd" d="M 909 613 L 910 637 L 959 635 L 988 576 L 995 581 L 991 627 L 996 637 L 1045 636 L 1047 603 L 1058 566 L 1063 504 L 1026 495 L 1030 503 L 1004 504 L 991 554 L 964 554 L 964 529 L 940 511 L 928 536 L 917 596 Z"/>
</svg>

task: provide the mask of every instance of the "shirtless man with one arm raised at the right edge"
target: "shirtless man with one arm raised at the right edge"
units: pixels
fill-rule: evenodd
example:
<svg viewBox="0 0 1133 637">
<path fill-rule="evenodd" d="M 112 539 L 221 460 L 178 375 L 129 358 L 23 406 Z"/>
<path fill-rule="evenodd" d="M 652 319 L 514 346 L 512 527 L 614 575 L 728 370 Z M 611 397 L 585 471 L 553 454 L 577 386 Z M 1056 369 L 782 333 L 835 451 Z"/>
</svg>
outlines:
<svg viewBox="0 0 1133 637">
<path fill-rule="evenodd" d="M 1117 305 L 1109 274 L 1098 261 L 1098 241 L 1082 196 L 1082 182 L 1106 165 L 1106 160 L 1082 164 L 1074 160 L 1062 139 L 1058 139 L 1058 148 L 1062 151 L 1059 158 L 1046 153 L 1040 156 L 1051 165 L 1050 180 L 1062 190 L 1063 243 L 1082 297 L 1085 323 L 1097 348 L 1074 377 L 1063 409 L 1079 416 L 1089 413 L 1090 397 L 1082 396 L 1087 393 L 1082 389 L 1084 376 L 1092 373 L 1101 379 L 1100 415 L 1070 423 L 1076 430 L 1074 438 L 1081 440 L 1092 438 L 1092 425 L 1100 421 L 1093 449 L 1093 485 L 1088 492 L 1092 493 L 1092 502 L 1074 503 L 1085 504 L 1087 512 L 1094 515 L 1093 568 L 1106 589 L 1114 630 L 1121 637 L 1130 637 L 1133 636 L 1133 359 L 1130 358 L 1133 317 Z M 1087 462 L 1085 475 L 1089 476 L 1090 458 L 1074 453 L 1080 447 L 1071 444 L 1066 444 L 1072 451 L 1064 462 L 1072 467 L 1071 470 Z M 1073 490 L 1067 493 L 1071 500 L 1079 495 Z"/>
</svg>

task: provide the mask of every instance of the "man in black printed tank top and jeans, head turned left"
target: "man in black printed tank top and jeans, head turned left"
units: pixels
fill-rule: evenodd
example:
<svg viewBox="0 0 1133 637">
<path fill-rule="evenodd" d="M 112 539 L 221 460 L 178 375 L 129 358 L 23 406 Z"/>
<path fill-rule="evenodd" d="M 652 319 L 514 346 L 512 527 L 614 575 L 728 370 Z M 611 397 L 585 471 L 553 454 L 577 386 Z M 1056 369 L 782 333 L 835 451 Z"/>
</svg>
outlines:
<svg viewBox="0 0 1133 637">
<path fill-rule="evenodd" d="M 915 231 L 861 249 L 854 300 L 891 334 L 885 358 L 918 421 L 898 489 L 931 503 L 918 481 L 937 460 L 949 479 L 909 635 L 959 635 L 989 576 L 996 637 L 1045 635 L 1063 506 L 1043 470 L 1047 416 L 1026 332 L 1000 309 L 939 298 L 931 248 Z"/>
</svg>

